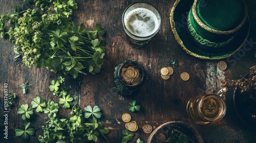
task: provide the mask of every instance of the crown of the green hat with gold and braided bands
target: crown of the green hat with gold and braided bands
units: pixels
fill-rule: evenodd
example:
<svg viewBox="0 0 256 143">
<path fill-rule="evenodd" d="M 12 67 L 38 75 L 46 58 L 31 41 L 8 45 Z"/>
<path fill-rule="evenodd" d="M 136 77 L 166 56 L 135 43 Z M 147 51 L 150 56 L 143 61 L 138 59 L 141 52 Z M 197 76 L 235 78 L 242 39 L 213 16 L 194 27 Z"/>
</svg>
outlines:
<svg viewBox="0 0 256 143">
<path fill-rule="evenodd" d="M 243 0 L 195 0 L 188 12 L 187 28 L 200 47 L 223 47 L 244 25 L 247 11 Z"/>
</svg>

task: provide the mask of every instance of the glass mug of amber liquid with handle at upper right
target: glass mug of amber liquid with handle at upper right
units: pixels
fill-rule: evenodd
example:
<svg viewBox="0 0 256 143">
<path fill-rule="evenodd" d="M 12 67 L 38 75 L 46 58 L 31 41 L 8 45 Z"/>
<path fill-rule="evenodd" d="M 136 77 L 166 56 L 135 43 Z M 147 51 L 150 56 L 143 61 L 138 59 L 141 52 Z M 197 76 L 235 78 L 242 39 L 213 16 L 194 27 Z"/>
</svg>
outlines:
<svg viewBox="0 0 256 143">
<path fill-rule="evenodd" d="M 227 87 L 224 87 L 217 94 L 191 98 L 187 103 L 190 120 L 199 125 L 220 121 L 226 113 L 226 103 L 222 97 L 226 91 Z"/>
</svg>

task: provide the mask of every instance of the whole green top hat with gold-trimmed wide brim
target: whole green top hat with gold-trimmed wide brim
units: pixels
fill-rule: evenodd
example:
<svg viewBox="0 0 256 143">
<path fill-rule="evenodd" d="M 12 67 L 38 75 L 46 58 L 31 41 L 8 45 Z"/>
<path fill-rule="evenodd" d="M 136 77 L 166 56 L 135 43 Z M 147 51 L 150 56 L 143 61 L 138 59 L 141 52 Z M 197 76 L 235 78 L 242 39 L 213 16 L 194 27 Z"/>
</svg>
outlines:
<svg viewBox="0 0 256 143">
<path fill-rule="evenodd" d="M 170 10 L 170 26 L 187 54 L 224 59 L 246 42 L 250 32 L 247 13 L 242 0 L 176 0 Z"/>
</svg>

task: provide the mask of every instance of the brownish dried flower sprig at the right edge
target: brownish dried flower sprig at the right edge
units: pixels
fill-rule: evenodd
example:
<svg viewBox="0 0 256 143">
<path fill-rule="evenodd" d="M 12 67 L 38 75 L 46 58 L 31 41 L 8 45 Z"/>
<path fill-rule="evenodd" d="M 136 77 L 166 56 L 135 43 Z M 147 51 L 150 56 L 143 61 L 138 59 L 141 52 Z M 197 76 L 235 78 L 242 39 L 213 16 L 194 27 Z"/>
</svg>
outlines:
<svg viewBox="0 0 256 143">
<path fill-rule="evenodd" d="M 224 82 L 224 86 L 232 87 L 240 92 L 252 91 L 256 93 L 256 65 L 249 68 L 249 73 L 241 76 L 239 80 L 229 80 Z"/>
</svg>

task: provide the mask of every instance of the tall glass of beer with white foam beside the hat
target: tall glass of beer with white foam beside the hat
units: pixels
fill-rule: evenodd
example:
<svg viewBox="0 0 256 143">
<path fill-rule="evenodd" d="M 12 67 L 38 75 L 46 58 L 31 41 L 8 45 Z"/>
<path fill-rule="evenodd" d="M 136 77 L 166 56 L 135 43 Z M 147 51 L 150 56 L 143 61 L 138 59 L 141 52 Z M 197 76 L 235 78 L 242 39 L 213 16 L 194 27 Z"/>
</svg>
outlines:
<svg viewBox="0 0 256 143">
<path fill-rule="evenodd" d="M 151 4 L 134 3 L 122 15 L 126 38 L 134 47 L 144 46 L 160 30 L 160 12 Z"/>
</svg>

